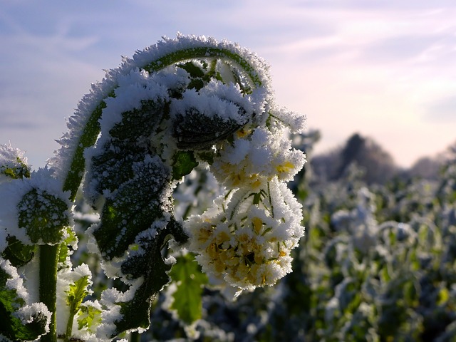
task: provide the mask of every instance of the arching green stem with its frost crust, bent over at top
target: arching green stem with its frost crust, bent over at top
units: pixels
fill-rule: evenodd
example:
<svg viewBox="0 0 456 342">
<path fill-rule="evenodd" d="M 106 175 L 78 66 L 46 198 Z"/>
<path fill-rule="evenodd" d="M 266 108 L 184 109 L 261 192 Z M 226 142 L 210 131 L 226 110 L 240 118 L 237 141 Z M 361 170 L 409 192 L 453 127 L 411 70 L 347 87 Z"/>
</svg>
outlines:
<svg viewBox="0 0 456 342">
<path fill-rule="evenodd" d="M 259 109 L 256 110 L 255 120 L 257 123 L 264 123 L 267 117 L 261 113 L 267 113 L 269 110 L 266 108 L 264 99 L 271 98 L 271 88 L 269 66 L 263 59 L 236 43 L 218 42 L 214 38 L 205 36 L 178 34 L 175 39 L 164 38 L 155 45 L 138 51 L 133 58 L 124 58 L 119 68 L 108 71 L 103 81 L 92 85 L 90 93 L 85 95 L 78 104 L 76 113 L 68 118 L 68 133 L 59 140 L 62 147 L 56 152 L 55 157 L 49 160 L 49 165 L 56 168 L 58 177 L 66 179 L 66 189 L 75 187 L 76 183 L 80 182 L 83 168 L 78 166 L 76 170 L 76 165 L 71 163 L 75 158 L 81 162 L 83 150 L 95 142 L 100 129 L 98 119 L 105 105 L 104 100 L 118 88 L 119 81 L 131 76 L 132 71 L 135 73 L 135 70 L 141 70 L 135 74 L 138 79 L 140 79 L 139 76 L 145 75 L 144 71 L 156 73 L 157 76 L 154 77 L 157 78 L 162 77 L 160 75 L 165 71 L 167 76 L 157 83 L 167 88 L 183 89 L 188 85 L 185 79 L 187 74 L 182 69 L 172 73 L 168 68 L 172 69 L 173 63 L 192 58 L 207 61 L 222 58 L 224 63 L 218 64 L 218 71 L 239 72 L 237 77 L 242 81 L 245 90 L 252 91 L 252 98 L 254 98 L 252 103 Z M 222 73 L 226 74 L 226 72 Z M 232 78 L 232 80 L 235 79 Z M 73 195 L 76 195 L 76 192 L 73 192 Z"/>
</svg>

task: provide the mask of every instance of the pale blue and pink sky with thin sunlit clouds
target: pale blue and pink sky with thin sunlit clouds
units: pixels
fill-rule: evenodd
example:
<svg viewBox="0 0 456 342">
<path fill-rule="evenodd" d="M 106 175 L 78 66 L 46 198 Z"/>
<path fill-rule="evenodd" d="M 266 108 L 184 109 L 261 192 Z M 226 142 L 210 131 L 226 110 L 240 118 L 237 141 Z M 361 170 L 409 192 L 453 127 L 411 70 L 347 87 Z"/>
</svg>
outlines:
<svg viewBox="0 0 456 342">
<path fill-rule="evenodd" d="M 44 166 L 90 83 L 177 32 L 266 59 L 316 152 L 358 132 L 407 167 L 456 141 L 454 0 L 0 0 L 0 144 Z"/>
</svg>

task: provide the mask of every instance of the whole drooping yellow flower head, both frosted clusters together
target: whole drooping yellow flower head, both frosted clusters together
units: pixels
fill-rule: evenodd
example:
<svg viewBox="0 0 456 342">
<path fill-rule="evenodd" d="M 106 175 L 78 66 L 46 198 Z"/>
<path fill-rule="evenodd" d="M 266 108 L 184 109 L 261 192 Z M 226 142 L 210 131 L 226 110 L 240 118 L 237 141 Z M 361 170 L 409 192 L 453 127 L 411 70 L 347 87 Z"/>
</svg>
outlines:
<svg viewBox="0 0 456 342">
<path fill-rule="evenodd" d="M 291 148 L 287 126 L 269 113 L 266 125 L 244 125 L 217 144 L 210 169 L 227 193 L 187 222 L 202 270 L 237 294 L 291 272 L 291 249 L 304 235 L 301 204 L 285 182 L 301 170 L 305 155 Z"/>
</svg>

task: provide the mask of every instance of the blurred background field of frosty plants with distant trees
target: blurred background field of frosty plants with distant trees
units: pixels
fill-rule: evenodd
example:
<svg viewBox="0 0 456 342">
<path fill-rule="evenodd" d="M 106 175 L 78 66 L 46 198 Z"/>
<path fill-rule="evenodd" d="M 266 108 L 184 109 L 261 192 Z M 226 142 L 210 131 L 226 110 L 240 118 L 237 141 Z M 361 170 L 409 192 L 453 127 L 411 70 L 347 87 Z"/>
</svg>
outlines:
<svg viewBox="0 0 456 342">
<path fill-rule="evenodd" d="M 456 341 L 456 145 L 403 170 L 359 134 L 314 156 L 319 138 L 294 137 L 309 163 L 289 184 L 306 226 L 293 273 L 237 301 L 204 288 L 190 328 L 162 291 L 141 341 Z M 201 187 L 210 175 L 192 175 L 177 199 L 182 217 L 217 194 Z M 79 210 L 82 232 L 96 217 Z M 100 291 L 106 280 L 94 278 Z"/>
</svg>

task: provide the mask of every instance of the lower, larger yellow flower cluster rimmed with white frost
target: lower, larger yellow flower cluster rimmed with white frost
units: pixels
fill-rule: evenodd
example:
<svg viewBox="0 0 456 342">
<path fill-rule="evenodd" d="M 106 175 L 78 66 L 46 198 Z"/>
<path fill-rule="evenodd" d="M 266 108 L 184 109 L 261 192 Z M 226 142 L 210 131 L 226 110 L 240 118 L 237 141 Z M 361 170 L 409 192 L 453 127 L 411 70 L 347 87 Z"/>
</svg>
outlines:
<svg viewBox="0 0 456 342">
<path fill-rule="evenodd" d="M 277 178 L 258 192 L 240 189 L 187 222 L 202 270 L 239 290 L 273 285 L 291 272 L 291 249 L 304 235 L 301 204 Z"/>
</svg>

